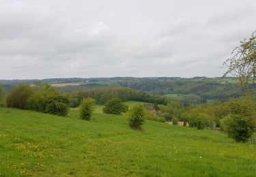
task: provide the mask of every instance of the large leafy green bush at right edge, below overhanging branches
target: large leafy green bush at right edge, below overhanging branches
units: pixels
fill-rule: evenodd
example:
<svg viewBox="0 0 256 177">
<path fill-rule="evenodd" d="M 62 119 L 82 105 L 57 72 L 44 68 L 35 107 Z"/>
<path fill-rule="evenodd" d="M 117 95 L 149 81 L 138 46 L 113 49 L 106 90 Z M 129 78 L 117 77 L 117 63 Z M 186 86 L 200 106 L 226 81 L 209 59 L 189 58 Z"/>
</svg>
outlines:
<svg viewBox="0 0 256 177">
<path fill-rule="evenodd" d="M 228 103 L 231 114 L 221 122 L 221 127 L 236 142 L 246 142 L 255 130 L 256 105 L 245 98 Z"/>
</svg>

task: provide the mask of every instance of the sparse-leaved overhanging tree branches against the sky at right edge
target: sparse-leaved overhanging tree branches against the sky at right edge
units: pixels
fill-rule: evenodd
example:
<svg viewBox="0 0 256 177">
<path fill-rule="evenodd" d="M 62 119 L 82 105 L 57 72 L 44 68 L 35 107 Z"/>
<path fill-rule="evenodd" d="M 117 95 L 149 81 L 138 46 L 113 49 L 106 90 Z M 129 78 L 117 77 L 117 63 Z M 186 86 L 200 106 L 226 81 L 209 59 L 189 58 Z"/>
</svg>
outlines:
<svg viewBox="0 0 256 177">
<path fill-rule="evenodd" d="M 247 92 L 250 78 L 253 77 L 254 85 L 256 76 L 256 31 L 253 31 L 249 39 L 241 41 L 240 46 L 236 47 L 232 54 L 233 57 L 223 63 L 228 67 L 224 77 L 227 74 L 239 76 L 240 84 Z"/>
</svg>

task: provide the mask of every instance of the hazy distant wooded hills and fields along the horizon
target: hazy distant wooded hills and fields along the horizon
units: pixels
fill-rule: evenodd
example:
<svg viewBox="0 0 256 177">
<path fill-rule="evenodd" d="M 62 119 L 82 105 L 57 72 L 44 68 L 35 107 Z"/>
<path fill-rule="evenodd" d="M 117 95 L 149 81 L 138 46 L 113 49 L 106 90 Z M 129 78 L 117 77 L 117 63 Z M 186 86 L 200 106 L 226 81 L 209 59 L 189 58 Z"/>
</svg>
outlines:
<svg viewBox="0 0 256 177">
<path fill-rule="evenodd" d="M 11 91 L 17 84 L 60 84 L 79 83 L 78 85 L 57 86 L 62 93 L 74 93 L 89 88 L 124 87 L 151 95 L 175 97 L 185 105 L 206 103 L 209 101 L 227 101 L 238 98 L 242 89 L 238 78 L 180 78 L 180 77 L 115 77 L 115 78 L 50 78 L 44 80 L 0 80 L 5 92 Z M 249 88 L 256 91 L 251 82 Z"/>
</svg>

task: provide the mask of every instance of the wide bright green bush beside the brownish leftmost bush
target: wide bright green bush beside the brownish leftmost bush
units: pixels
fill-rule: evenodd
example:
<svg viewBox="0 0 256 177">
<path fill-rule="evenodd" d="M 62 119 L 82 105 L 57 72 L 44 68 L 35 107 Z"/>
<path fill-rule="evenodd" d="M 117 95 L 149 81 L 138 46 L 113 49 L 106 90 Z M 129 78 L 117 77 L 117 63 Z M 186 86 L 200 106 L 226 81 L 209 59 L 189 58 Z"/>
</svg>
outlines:
<svg viewBox="0 0 256 177">
<path fill-rule="evenodd" d="M 61 95 L 59 91 L 51 86 L 46 86 L 42 90 L 36 91 L 27 100 L 29 109 L 66 116 L 68 114 L 68 97 Z"/>
</svg>

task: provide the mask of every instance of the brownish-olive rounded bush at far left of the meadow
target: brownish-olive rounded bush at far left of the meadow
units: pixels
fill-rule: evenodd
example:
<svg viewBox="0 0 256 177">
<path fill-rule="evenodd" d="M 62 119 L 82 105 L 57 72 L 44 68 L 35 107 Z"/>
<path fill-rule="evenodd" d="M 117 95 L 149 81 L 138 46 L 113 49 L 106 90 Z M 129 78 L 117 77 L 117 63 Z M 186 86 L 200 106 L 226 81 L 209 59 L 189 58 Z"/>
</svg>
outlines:
<svg viewBox="0 0 256 177">
<path fill-rule="evenodd" d="M 33 88 L 29 84 L 18 85 L 6 97 L 6 106 L 8 108 L 28 109 L 28 98 L 33 94 Z"/>
</svg>

